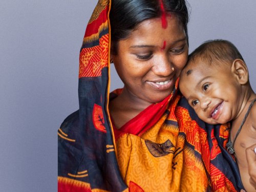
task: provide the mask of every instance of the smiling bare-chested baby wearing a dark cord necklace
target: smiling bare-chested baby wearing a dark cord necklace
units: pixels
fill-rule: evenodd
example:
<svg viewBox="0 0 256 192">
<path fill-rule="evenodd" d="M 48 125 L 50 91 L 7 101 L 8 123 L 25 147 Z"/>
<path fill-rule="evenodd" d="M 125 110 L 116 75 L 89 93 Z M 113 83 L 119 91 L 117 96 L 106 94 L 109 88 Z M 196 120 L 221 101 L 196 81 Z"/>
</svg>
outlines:
<svg viewBox="0 0 256 192">
<path fill-rule="evenodd" d="M 200 119 L 209 124 L 232 120 L 227 150 L 236 157 L 246 191 L 256 191 L 245 150 L 256 146 L 256 94 L 238 49 L 226 40 L 204 42 L 189 55 L 179 83 Z"/>
</svg>

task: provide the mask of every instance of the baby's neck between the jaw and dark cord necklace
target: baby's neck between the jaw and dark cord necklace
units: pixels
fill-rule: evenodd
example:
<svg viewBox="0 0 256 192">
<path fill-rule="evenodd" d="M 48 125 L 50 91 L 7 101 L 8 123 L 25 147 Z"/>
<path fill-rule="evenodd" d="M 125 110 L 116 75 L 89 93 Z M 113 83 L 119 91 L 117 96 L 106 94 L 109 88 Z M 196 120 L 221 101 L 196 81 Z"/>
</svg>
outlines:
<svg viewBox="0 0 256 192">
<path fill-rule="evenodd" d="M 251 86 L 247 86 L 247 88 L 244 91 L 244 98 L 243 98 L 243 102 L 241 105 L 241 108 L 237 114 L 237 116 L 233 119 L 234 121 L 237 121 L 238 119 L 240 119 L 239 117 L 242 115 L 244 116 L 245 111 L 248 110 L 249 105 L 251 104 L 251 102 L 256 98 L 256 94 L 253 92 L 253 90 L 251 89 Z"/>
</svg>

